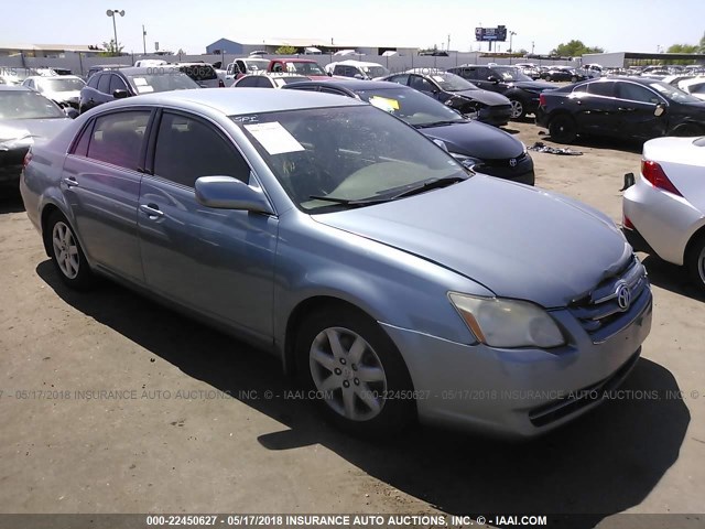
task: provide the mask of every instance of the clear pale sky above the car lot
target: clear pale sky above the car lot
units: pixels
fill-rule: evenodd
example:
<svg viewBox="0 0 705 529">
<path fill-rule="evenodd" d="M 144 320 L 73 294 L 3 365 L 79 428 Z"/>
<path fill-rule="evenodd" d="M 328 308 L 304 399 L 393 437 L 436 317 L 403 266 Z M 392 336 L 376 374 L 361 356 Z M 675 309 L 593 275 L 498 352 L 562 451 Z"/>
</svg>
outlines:
<svg viewBox="0 0 705 529">
<path fill-rule="evenodd" d="M 505 24 L 514 50 L 547 53 L 578 39 L 607 51 L 657 52 L 697 44 L 705 32 L 705 0 L 2 0 L 0 45 L 101 44 L 112 37 L 107 9 L 117 18 L 126 52 L 205 53 L 220 37 L 259 43 L 267 37 L 334 39 L 360 45 L 477 50 L 474 29 Z M 509 47 L 509 42 L 500 44 Z M 487 44 L 484 44 L 484 50 Z"/>
</svg>

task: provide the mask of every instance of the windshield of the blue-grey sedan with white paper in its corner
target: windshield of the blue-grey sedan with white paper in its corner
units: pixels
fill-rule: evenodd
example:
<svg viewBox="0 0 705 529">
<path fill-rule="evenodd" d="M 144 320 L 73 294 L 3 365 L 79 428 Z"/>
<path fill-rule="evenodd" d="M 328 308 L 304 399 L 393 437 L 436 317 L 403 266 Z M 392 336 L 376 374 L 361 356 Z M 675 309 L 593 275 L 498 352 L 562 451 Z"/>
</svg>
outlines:
<svg viewBox="0 0 705 529">
<path fill-rule="evenodd" d="M 432 141 L 371 106 L 231 119 L 296 206 L 312 214 L 391 199 L 430 181 L 468 176 Z M 361 202 L 350 204 L 355 201 Z"/>
</svg>

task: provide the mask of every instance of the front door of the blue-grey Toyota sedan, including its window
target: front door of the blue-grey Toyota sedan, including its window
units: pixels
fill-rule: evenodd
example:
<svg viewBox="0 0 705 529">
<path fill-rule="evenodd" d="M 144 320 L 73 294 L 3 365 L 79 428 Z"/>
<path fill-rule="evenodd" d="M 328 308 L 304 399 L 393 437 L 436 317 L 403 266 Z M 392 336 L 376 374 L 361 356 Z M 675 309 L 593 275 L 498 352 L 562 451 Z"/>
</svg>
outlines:
<svg viewBox="0 0 705 529">
<path fill-rule="evenodd" d="M 215 123 L 171 110 L 162 114 L 150 152 L 138 220 L 148 287 L 260 339 L 271 337 L 278 219 L 203 206 L 194 191 L 199 176 L 249 183 L 248 163 Z"/>
</svg>

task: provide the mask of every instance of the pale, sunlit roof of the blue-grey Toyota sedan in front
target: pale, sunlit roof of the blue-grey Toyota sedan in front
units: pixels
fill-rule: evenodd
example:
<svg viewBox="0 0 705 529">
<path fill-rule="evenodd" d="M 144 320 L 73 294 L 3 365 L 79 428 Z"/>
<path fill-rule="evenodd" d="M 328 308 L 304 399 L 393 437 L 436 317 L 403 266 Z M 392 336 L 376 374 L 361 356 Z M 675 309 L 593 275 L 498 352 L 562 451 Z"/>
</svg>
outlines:
<svg viewBox="0 0 705 529">
<path fill-rule="evenodd" d="M 263 90 L 261 88 L 194 88 L 161 91 L 121 99 L 109 105 L 111 108 L 117 108 L 141 104 L 158 106 L 181 105 L 184 108 L 208 107 L 215 112 L 225 116 L 364 105 L 355 99 L 343 98 L 333 94 L 303 90 Z"/>
</svg>

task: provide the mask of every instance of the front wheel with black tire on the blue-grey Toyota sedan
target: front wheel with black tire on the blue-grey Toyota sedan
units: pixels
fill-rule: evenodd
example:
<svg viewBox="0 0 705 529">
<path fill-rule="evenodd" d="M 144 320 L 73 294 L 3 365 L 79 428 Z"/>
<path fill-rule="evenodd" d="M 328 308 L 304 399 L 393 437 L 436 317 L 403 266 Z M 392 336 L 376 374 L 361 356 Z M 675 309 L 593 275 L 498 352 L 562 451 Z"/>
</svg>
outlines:
<svg viewBox="0 0 705 529">
<path fill-rule="evenodd" d="M 330 334 L 337 336 L 341 346 L 337 353 Z M 352 344 L 360 344 L 360 348 Z M 355 350 L 362 350 L 357 360 Z M 414 422 L 416 408 L 406 365 L 379 324 L 362 312 L 334 305 L 311 313 L 296 333 L 295 355 L 301 382 L 305 389 L 317 391 L 315 402 L 319 411 L 341 430 L 379 439 L 399 433 Z M 371 380 L 379 376 L 377 366 L 381 366 L 383 382 Z M 364 373 L 368 381 L 362 380 Z M 368 403 L 372 400 L 365 401 L 360 396 L 371 398 L 375 407 Z M 351 413 L 346 403 L 350 403 Z"/>
</svg>

